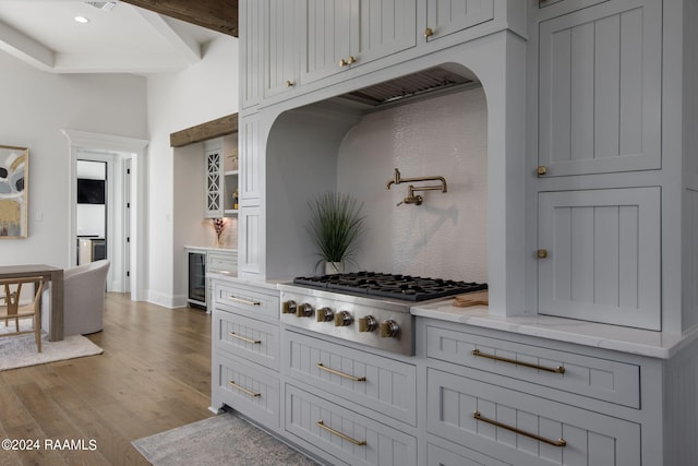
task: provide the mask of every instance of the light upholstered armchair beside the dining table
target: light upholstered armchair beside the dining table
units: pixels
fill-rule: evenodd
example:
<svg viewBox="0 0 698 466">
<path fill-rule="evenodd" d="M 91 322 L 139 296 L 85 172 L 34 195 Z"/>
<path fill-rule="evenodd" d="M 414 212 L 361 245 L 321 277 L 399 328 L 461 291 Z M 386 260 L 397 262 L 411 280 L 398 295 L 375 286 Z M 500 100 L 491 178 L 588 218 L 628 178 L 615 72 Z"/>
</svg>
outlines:
<svg viewBox="0 0 698 466">
<path fill-rule="evenodd" d="M 95 261 L 63 273 L 63 332 L 85 335 L 104 327 L 109 261 Z"/>
</svg>

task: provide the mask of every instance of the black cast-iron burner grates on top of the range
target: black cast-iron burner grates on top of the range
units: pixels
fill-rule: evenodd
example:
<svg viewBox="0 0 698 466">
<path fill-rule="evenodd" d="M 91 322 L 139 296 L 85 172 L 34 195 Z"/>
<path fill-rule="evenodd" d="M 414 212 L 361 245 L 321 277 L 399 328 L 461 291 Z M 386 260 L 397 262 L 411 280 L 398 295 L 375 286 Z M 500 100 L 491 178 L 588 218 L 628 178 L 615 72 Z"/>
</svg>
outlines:
<svg viewBox="0 0 698 466">
<path fill-rule="evenodd" d="M 406 301 L 424 301 L 488 289 L 488 284 L 377 272 L 297 277 L 293 278 L 293 284 L 327 291 L 345 291 Z"/>
</svg>

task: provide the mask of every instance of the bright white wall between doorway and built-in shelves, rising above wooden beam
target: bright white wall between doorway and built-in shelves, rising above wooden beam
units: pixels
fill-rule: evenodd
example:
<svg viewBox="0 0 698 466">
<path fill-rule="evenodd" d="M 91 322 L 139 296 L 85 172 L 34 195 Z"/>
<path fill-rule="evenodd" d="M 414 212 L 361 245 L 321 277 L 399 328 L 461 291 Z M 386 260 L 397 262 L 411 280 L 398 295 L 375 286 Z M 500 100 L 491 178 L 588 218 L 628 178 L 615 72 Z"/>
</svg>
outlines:
<svg viewBox="0 0 698 466">
<path fill-rule="evenodd" d="M 204 50 L 200 63 L 176 74 L 159 74 L 147 80 L 147 108 L 151 145 L 148 146 L 148 259 L 147 299 L 177 307 L 184 302 L 185 289 L 183 247 L 185 235 L 176 231 L 190 229 L 202 220 L 202 210 L 194 203 L 176 204 L 183 195 L 202 193 L 203 175 L 191 188 L 174 183 L 174 157 L 169 135 L 172 132 L 201 124 L 238 111 L 238 39 L 222 36 Z M 203 159 L 203 154 L 202 154 Z M 179 162 L 178 162 L 179 160 Z M 179 168 L 178 168 L 179 169 Z M 177 179 L 181 178 L 180 175 Z M 174 190 L 177 189 L 177 195 Z"/>
</svg>

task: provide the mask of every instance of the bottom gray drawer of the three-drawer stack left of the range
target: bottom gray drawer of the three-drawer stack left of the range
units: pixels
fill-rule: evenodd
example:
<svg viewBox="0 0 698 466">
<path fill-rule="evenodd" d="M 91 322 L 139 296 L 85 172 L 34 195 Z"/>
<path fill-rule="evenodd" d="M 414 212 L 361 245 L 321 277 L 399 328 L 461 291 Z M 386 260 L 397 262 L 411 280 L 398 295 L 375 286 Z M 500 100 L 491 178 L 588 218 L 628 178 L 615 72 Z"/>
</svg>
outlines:
<svg viewBox="0 0 698 466">
<path fill-rule="evenodd" d="M 215 353 L 213 358 L 213 390 L 218 392 L 214 398 L 263 426 L 278 428 L 278 378 L 220 353 Z"/>
</svg>

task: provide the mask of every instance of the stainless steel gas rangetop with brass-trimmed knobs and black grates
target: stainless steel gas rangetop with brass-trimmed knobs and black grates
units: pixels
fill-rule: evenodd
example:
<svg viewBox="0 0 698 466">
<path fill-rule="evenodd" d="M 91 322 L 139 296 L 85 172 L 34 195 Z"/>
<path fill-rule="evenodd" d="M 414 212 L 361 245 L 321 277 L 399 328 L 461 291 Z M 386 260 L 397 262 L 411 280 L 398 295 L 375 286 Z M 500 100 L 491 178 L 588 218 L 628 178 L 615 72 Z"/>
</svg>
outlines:
<svg viewBox="0 0 698 466">
<path fill-rule="evenodd" d="M 486 284 L 358 272 L 298 277 L 279 285 L 281 321 L 386 351 L 414 354 L 410 307 L 466 292 Z"/>
</svg>

